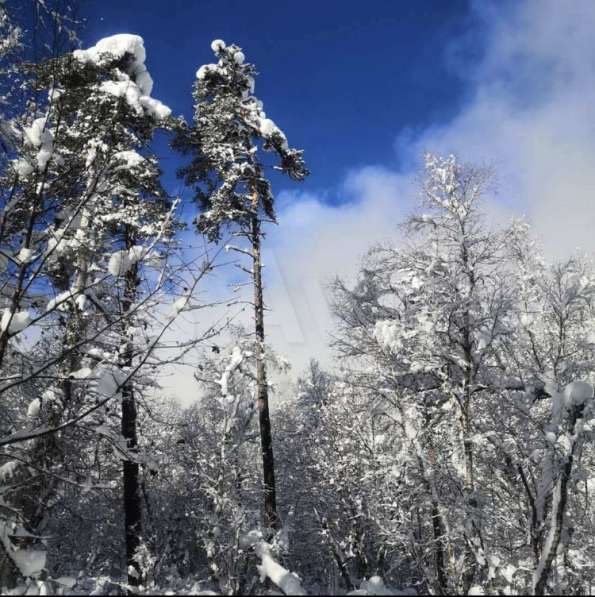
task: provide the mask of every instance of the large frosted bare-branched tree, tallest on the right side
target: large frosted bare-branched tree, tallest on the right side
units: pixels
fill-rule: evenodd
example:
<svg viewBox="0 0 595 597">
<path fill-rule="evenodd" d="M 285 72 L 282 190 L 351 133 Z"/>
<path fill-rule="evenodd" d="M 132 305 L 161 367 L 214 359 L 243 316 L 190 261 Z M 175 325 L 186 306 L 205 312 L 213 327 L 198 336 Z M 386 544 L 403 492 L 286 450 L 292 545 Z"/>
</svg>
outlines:
<svg viewBox="0 0 595 597">
<path fill-rule="evenodd" d="M 419 577 L 439 592 L 543 591 L 588 437 L 589 399 L 559 405 L 572 384 L 592 387 L 590 274 L 576 261 L 548 273 L 520 223 L 490 230 L 485 183 L 452 156 L 427 157 L 409 244 L 373 249 L 354 288 L 334 285 L 335 346 L 346 380 L 401 434 L 398 491 L 413 508 L 399 519 L 425 516 L 403 542 Z M 566 452 L 548 433 L 573 438 Z M 533 555 L 512 537 L 532 537 Z"/>
</svg>

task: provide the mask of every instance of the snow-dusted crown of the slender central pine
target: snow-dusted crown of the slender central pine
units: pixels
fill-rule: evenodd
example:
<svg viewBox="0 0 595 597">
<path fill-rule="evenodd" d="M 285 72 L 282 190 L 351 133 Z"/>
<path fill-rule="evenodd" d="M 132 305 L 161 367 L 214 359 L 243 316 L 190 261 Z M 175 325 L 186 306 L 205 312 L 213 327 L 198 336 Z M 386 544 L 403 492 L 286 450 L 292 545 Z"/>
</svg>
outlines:
<svg viewBox="0 0 595 597">
<path fill-rule="evenodd" d="M 221 226 L 242 226 L 259 210 L 275 219 L 260 149 L 273 154 L 278 160 L 273 167 L 294 180 L 303 180 L 308 171 L 303 152 L 289 147 L 283 131 L 255 97 L 256 68 L 246 62 L 242 49 L 220 39 L 211 49 L 218 61 L 196 72 L 195 127 L 185 131 L 177 145 L 195 156 L 181 172 L 195 186 L 204 208 L 197 218 L 199 229 L 215 239 Z"/>
</svg>

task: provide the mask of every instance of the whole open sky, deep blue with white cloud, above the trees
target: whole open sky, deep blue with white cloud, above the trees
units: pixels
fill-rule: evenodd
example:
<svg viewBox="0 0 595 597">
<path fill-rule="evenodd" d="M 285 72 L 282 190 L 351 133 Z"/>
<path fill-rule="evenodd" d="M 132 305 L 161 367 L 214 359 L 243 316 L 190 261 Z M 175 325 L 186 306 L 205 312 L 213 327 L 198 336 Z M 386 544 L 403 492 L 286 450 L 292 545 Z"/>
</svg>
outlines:
<svg viewBox="0 0 595 597">
<path fill-rule="evenodd" d="M 143 36 L 153 95 L 174 113 L 191 115 L 213 39 L 243 46 L 260 70 L 257 95 L 312 171 L 301 185 L 275 181 L 279 226 L 264 253 L 268 338 L 297 372 L 311 357 L 332 365 L 326 285 L 353 279 L 372 244 L 401 242 L 424 151 L 493 169 L 495 224 L 525 217 L 547 256 L 593 255 L 593 0 L 87 0 L 86 14 L 84 45 Z M 160 151 L 176 191 L 177 158 Z M 203 290 L 225 296 L 229 282 L 222 271 Z M 221 315 L 200 314 L 180 338 Z M 169 387 L 196 394 L 190 373 Z"/>
</svg>

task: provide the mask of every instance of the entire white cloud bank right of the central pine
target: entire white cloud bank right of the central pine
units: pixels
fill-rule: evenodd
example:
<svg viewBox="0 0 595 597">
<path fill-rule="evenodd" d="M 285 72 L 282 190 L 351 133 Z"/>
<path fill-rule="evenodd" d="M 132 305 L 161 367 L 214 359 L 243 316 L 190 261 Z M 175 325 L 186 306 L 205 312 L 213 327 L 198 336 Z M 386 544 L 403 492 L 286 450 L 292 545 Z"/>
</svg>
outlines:
<svg viewBox="0 0 595 597">
<path fill-rule="evenodd" d="M 492 213 L 526 215 L 546 251 L 592 251 L 595 230 L 595 3 L 477 4 L 482 59 L 467 65 L 468 101 L 452 120 L 412 136 L 395 131 L 400 163 L 423 151 L 491 165 Z M 388 156 L 390 163 L 392 156 Z M 328 362 L 332 318 L 324 284 L 353 276 L 373 243 L 396 239 L 415 200 L 415 174 L 373 165 L 339 182 L 329 205 L 299 192 L 279 196 L 280 226 L 266 240 L 269 338 L 299 371 Z"/>
</svg>

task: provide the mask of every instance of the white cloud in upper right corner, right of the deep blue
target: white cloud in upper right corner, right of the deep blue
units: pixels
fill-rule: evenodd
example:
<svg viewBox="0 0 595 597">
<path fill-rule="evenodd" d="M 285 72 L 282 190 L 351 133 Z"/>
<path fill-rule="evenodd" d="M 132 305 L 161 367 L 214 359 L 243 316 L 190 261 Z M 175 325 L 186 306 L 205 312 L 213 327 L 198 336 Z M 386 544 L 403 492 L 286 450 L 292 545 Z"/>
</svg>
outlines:
<svg viewBox="0 0 595 597">
<path fill-rule="evenodd" d="M 595 4 L 526 2 L 512 13 L 481 6 L 489 37 L 471 99 L 409 151 L 492 164 L 499 201 L 526 213 L 551 255 L 592 251 Z"/>
</svg>

